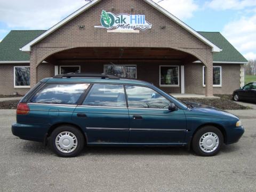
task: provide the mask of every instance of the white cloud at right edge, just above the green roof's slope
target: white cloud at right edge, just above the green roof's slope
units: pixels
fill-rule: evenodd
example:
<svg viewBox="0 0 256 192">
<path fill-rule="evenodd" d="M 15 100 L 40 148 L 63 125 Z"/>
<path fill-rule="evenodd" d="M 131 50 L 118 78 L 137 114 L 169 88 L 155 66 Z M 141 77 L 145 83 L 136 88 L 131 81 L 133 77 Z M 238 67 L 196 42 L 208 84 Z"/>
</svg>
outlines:
<svg viewBox="0 0 256 192">
<path fill-rule="evenodd" d="M 229 22 L 223 28 L 222 34 L 246 58 L 256 59 L 256 14 Z"/>
</svg>

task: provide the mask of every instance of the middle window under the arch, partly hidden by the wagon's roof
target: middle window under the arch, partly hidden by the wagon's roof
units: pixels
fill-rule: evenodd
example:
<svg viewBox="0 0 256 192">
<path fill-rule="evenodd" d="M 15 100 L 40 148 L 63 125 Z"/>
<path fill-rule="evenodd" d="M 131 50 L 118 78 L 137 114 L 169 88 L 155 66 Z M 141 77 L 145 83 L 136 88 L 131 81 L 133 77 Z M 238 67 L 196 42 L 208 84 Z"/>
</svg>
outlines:
<svg viewBox="0 0 256 192">
<path fill-rule="evenodd" d="M 137 67 L 133 65 L 105 65 L 104 73 L 135 79 L 137 78 Z"/>
</svg>

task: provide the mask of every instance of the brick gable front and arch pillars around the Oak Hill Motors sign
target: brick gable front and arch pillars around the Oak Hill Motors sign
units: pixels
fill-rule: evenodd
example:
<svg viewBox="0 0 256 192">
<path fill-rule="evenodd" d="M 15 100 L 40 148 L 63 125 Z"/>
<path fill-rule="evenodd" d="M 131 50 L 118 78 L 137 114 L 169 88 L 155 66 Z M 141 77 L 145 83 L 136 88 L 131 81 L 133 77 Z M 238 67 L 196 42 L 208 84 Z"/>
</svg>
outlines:
<svg viewBox="0 0 256 192">
<path fill-rule="evenodd" d="M 131 7 L 134 7 L 134 11 L 131 11 Z M 94 26 L 100 25 L 102 10 L 115 14 L 145 14 L 146 20 L 153 27 L 136 34 L 107 33 L 107 29 L 94 28 Z M 85 25 L 85 29 L 79 29 L 78 25 Z M 161 26 L 166 26 L 166 28 L 161 29 Z M 40 62 L 54 53 L 73 47 L 165 47 L 193 54 L 206 66 L 209 66 L 207 68 L 209 75 L 206 74 L 206 94 L 212 95 L 210 86 L 212 84 L 211 47 L 142 0 L 102 0 L 35 44 L 30 52 L 31 85 L 35 85 L 39 79 L 36 77 L 35 71 Z M 150 67 L 159 70 L 157 66 Z M 140 74 L 139 70 L 138 74 Z M 158 74 L 151 74 L 151 76 L 153 78 Z M 144 78 L 143 74 L 141 78 Z M 177 88 L 173 90 L 178 91 Z"/>
</svg>

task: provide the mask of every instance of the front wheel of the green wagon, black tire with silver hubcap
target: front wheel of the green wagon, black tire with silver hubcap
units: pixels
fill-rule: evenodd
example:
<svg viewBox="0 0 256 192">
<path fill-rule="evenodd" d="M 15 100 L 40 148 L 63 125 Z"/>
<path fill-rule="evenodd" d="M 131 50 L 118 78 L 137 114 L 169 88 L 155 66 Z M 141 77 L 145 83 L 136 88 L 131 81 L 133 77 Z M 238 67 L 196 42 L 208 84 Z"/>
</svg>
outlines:
<svg viewBox="0 0 256 192">
<path fill-rule="evenodd" d="M 214 156 L 219 153 L 222 145 L 223 135 L 214 126 L 202 127 L 195 133 L 192 140 L 193 150 L 200 156 Z"/>
</svg>

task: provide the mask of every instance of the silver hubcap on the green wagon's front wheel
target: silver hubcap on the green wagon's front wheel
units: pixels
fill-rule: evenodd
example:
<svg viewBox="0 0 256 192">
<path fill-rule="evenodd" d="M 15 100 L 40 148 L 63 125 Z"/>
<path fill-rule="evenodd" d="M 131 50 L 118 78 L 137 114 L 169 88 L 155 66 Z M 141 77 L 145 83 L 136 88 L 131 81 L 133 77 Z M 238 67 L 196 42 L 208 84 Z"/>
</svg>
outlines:
<svg viewBox="0 0 256 192">
<path fill-rule="evenodd" d="M 213 152 L 219 146 L 218 135 L 212 132 L 203 134 L 199 140 L 199 146 L 205 153 Z"/>
</svg>

